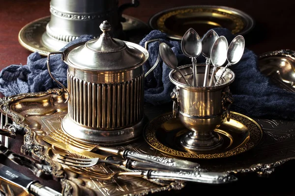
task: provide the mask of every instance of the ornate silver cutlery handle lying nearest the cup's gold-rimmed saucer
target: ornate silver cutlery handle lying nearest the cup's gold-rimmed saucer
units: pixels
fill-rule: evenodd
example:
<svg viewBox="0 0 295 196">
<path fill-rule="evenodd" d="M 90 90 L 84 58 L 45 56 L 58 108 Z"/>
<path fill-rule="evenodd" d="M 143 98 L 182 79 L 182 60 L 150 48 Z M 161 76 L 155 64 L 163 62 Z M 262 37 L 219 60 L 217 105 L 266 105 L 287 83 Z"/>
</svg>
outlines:
<svg viewBox="0 0 295 196">
<path fill-rule="evenodd" d="M 154 164 L 155 168 L 169 171 L 199 171 L 200 164 L 191 161 L 180 160 L 176 158 L 166 158 L 152 156 L 149 154 L 138 153 L 125 149 L 122 152 L 122 157 L 136 161 L 142 161 Z"/>
</svg>

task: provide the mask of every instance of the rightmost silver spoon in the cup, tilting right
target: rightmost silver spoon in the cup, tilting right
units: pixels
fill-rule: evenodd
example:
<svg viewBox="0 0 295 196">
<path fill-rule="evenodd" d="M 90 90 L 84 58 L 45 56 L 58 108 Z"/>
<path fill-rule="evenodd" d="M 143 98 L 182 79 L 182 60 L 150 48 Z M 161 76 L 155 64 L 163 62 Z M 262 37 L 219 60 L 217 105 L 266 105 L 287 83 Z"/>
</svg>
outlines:
<svg viewBox="0 0 295 196">
<path fill-rule="evenodd" d="M 231 65 L 235 65 L 239 60 L 242 58 L 242 55 L 244 53 L 245 48 L 245 39 L 241 35 L 237 35 L 233 41 L 231 42 L 228 50 L 227 50 L 227 60 L 228 64 L 224 67 L 223 72 L 219 76 L 217 82 L 215 83 L 215 86 L 220 82 L 223 74 L 226 71 L 226 68 L 228 68 Z"/>
</svg>

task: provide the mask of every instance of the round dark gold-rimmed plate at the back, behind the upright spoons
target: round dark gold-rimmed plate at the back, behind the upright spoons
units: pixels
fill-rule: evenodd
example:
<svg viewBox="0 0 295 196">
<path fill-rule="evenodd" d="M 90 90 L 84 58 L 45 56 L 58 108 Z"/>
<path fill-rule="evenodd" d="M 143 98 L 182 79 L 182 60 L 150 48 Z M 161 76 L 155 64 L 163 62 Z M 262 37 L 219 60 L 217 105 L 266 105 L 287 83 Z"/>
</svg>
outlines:
<svg viewBox="0 0 295 196">
<path fill-rule="evenodd" d="M 167 33 L 172 39 L 181 40 L 187 29 L 198 29 L 199 35 L 215 27 L 224 27 L 233 34 L 244 35 L 254 27 L 248 14 L 231 7 L 216 5 L 190 5 L 175 7 L 156 13 L 149 20 L 153 29 Z"/>
</svg>

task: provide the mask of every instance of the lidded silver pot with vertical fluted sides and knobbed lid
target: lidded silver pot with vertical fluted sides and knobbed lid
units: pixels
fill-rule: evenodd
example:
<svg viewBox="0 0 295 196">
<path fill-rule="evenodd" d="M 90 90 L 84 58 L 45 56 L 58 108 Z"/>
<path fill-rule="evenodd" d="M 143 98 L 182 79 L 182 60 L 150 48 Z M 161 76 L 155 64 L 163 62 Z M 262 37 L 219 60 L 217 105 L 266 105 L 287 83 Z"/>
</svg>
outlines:
<svg viewBox="0 0 295 196">
<path fill-rule="evenodd" d="M 68 113 L 61 122 L 66 134 L 86 143 L 124 144 L 141 136 L 147 123 L 143 64 L 149 54 L 140 45 L 112 38 L 107 21 L 99 27 L 99 38 L 49 53 L 48 71 L 50 55 L 62 54 L 68 65 Z"/>
</svg>

